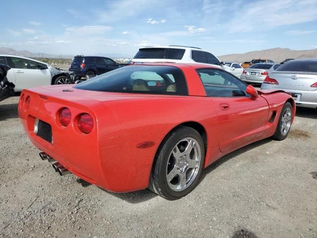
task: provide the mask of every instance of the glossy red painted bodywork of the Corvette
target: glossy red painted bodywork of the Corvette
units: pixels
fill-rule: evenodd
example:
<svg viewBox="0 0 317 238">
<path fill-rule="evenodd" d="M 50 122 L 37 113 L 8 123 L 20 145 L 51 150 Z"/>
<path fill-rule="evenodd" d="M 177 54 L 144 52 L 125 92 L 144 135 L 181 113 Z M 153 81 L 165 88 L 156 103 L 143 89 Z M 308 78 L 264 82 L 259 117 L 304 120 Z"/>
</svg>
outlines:
<svg viewBox="0 0 317 238">
<path fill-rule="evenodd" d="M 283 92 L 260 92 L 256 99 L 206 97 L 196 73 L 196 68 L 206 65 L 159 65 L 183 70 L 190 96 L 96 92 L 67 85 L 37 87 L 21 93 L 18 107 L 21 124 L 35 146 L 76 176 L 106 190 L 125 192 L 148 186 L 158 147 L 177 125 L 196 122 L 205 128 L 206 168 L 233 150 L 273 135 L 283 105 L 287 100 L 293 102 Z M 28 96 L 29 107 L 24 110 Z M 221 105 L 229 108 L 222 110 Z M 68 126 L 61 125 L 58 118 L 59 110 L 65 107 L 71 111 Z M 273 111 L 277 116 L 269 123 Z M 85 113 L 94 119 L 89 134 L 82 133 L 77 126 L 79 115 Z M 34 134 L 35 118 L 51 124 L 52 144 Z M 137 148 L 143 142 L 154 145 Z"/>
</svg>

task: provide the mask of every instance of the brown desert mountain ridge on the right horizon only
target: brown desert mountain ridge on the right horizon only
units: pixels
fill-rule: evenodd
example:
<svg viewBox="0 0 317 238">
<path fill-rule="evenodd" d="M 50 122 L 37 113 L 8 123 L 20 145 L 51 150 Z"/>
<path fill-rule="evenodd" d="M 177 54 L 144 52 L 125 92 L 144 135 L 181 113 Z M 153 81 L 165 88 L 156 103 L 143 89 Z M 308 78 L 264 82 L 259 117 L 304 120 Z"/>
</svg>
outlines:
<svg viewBox="0 0 317 238">
<path fill-rule="evenodd" d="M 232 61 L 242 63 L 251 61 L 253 59 L 273 60 L 279 63 L 285 59 L 303 59 L 303 58 L 317 58 L 317 49 L 295 51 L 289 48 L 273 48 L 262 51 L 252 51 L 245 54 L 231 54 L 219 56 L 222 61 Z"/>
</svg>

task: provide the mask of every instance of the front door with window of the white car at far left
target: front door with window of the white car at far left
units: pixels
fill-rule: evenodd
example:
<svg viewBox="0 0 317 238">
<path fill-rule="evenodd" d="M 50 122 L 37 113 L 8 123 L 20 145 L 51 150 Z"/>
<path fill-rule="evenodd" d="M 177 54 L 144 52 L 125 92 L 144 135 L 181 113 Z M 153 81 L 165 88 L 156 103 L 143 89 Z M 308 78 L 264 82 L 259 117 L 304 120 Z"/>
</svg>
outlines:
<svg viewBox="0 0 317 238">
<path fill-rule="evenodd" d="M 46 64 L 18 57 L 7 57 L 15 75 L 15 91 L 51 85 L 52 76 Z"/>
</svg>

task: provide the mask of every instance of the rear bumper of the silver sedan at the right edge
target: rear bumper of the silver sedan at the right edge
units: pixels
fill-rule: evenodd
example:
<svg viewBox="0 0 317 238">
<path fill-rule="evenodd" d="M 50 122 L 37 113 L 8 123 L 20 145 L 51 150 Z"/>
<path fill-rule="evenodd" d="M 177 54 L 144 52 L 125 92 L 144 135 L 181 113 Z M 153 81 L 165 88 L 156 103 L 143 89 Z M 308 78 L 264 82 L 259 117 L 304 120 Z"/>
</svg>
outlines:
<svg viewBox="0 0 317 238">
<path fill-rule="evenodd" d="M 296 106 L 304 108 L 317 108 L 317 91 L 292 90 L 287 88 L 276 88 L 272 84 L 263 83 L 261 89 L 280 89 L 291 93 Z"/>
</svg>

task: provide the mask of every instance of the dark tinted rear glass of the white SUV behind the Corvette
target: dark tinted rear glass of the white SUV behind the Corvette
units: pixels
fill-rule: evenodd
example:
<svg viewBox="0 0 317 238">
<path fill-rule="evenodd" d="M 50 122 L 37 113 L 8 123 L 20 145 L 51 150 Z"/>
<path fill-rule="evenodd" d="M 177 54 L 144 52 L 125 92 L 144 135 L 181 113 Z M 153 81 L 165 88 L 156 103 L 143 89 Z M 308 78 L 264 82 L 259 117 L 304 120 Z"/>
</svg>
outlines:
<svg viewBox="0 0 317 238">
<path fill-rule="evenodd" d="M 169 59 L 181 60 L 185 54 L 184 49 L 175 48 L 144 48 L 140 49 L 134 59 Z"/>
</svg>

